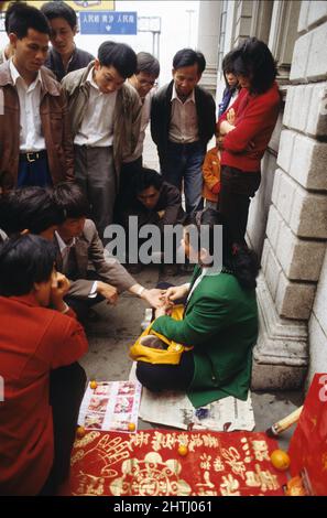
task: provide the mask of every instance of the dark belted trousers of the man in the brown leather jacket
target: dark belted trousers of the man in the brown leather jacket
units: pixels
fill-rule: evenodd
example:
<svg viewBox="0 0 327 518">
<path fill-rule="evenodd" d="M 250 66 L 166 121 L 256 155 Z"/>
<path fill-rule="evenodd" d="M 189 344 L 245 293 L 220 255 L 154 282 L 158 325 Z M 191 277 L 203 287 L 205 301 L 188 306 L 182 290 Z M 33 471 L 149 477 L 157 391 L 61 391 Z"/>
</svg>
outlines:
<svg viewBox="0 0 327 518">
<path fill-rule="evenodd" d="M 40 187 L 51 186 L 53 184 L 50 174 L 46 151 L 40 153 L 29 153 L 34 159 L 29 162 L 25 154 L 20 155 L 18 170 L 18 187 L 37 185 Z M 39 159 L 36 158 L 39 154 Z"/>
</svg>

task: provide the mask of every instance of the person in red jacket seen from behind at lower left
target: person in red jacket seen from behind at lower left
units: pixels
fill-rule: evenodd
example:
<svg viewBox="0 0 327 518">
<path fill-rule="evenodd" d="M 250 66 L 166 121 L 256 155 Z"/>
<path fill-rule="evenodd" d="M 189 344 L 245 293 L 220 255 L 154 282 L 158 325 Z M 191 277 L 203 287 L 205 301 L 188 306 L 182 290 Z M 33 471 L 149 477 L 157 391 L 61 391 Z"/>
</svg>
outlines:
<svg viewBox="0 0 327 518">
<path fill-rule="evenodd" d="M 33 235 L 0 247 L 0 495 L 53 494 L 69 472 L 88 344 L 55 256 Z"/>
</svg>

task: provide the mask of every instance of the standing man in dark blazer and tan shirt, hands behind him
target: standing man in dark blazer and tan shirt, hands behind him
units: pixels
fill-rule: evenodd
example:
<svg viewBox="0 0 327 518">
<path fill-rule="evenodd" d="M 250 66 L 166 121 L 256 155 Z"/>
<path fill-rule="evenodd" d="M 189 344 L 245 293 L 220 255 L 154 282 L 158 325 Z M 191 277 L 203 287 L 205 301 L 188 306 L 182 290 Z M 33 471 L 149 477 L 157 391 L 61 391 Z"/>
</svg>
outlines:
<svg viewBox="0 0 327 518">
<path fill-rule="evenodd" d="M 187 213 L 201 208 L 201 164 L 215 132 L 215 100 L 197 86 L 205 67 L 200 52 L 178 51 L 173 60 L 173 80 L 153 96 L 151 105 L 151 134 L 161 173 L 179 191 L 184 181 Z"/>
</svg>

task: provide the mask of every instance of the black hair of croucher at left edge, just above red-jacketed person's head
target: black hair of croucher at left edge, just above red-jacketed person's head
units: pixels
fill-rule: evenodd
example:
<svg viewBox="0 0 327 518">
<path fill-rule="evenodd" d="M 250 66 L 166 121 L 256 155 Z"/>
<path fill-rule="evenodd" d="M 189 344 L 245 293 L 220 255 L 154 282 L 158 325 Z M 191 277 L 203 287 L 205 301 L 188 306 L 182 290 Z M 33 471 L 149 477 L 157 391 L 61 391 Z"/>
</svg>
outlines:
<svg viewBox="0 0 327 518">
<path fill-rule="evenodd" d="M 22 187 L 0 198 L 0 228 L 8 236 L 25 228 L 40 234 L 54 225 L 61 225 L 65 215 L 45 187 Z"/>
</svg>

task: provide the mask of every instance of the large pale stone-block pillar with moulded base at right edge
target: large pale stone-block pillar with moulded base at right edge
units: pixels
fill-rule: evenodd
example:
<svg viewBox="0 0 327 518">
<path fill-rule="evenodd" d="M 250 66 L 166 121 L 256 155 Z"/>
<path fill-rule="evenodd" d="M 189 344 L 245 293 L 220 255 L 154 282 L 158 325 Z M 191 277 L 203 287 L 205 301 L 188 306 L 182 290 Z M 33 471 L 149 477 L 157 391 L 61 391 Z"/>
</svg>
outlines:
<svg viewBox="0 0 327 518">
<path fill-rule="evenodd" d="M 327 2 L 302 2 L 297 31 L 258 288 L 257 389 L 303 385 L 326 252 Z"/>
</svg>

